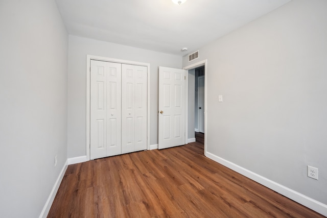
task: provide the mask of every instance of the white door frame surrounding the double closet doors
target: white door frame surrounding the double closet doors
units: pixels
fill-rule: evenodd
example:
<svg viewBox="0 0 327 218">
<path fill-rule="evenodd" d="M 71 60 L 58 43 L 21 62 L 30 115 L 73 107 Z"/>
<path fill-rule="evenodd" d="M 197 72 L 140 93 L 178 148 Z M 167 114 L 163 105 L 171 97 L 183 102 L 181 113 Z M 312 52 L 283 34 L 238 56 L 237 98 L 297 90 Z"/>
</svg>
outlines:
<svg viewBox="0 0 327 218">
<path fill-rule="evenodd" d="M 136 61 L 127 61 L 114 58 L 106 58 L 94 55 L 86 55 L 86 160 L 90 160 L 90 61 L 107 61 L 121 64 L 131 64 L 146 66 L 148 68 L 148 87 L 147 87 L 147 150 L 150 150 L 150 64 Z"/>
</svg>

